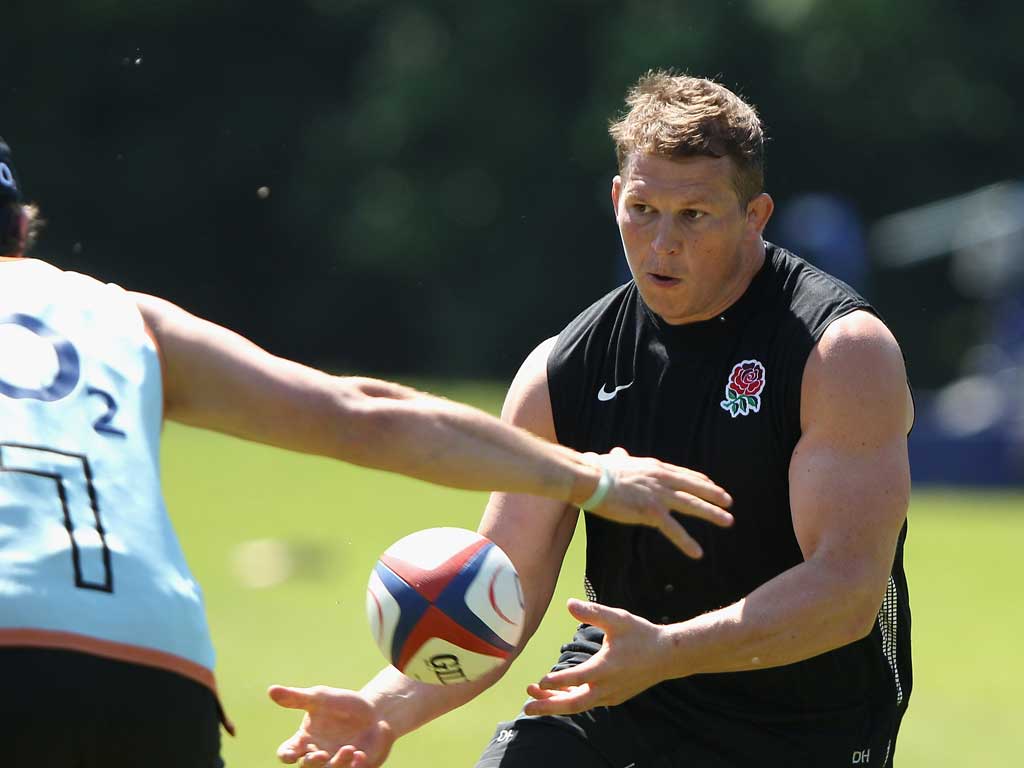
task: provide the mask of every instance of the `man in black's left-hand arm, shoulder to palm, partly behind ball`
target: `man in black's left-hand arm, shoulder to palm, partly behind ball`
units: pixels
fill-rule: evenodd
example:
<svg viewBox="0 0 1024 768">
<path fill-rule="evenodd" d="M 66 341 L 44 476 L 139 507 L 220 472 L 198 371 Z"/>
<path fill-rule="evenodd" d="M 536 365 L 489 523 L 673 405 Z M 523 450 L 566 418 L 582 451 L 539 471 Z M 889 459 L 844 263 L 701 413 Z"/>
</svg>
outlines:
<svg viewBox="0 0 1024 768">
<path fill-rule="evenodd" d="M 502 418 L 553 440 L 546 374 L 549 348 L 550 344 L 542 344 L 523 364 Z M 508 553 L 519 571 L 526 613 L 518 649 L 532 636 L 551 601 L 575 520 L 575 509 L 554 500 L 512 494 L 490 497 L 479 530 Z M 387 667 L 358 694 L 323 686 L 274 686 L 270 695 L 278 703 L 307 713 L 302 727 L 282 744 L 279 757 L 286 763 L 303 758 L 304 766 L 380 765 L 395 738 L 469 701 L 507 668 L 445 687 L 419 683 Z"/>
</svg>

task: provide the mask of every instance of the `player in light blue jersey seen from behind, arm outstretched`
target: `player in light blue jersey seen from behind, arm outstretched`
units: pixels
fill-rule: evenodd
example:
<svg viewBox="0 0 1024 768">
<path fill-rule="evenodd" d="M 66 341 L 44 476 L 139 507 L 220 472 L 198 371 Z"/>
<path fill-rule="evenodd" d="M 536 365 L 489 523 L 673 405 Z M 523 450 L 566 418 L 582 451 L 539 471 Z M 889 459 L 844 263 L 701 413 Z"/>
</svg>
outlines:
<svg viewBox="0 0 1024 768">
<path fill-rule="evenodd" d="M 221 765 L 202 595 L 160 487 L 165 417 L 583 503 L 683 549 L 692 541 L 670 510 L 731 520 L 729 497 L 695 472 L 642 459 L 602 468 L 471 408 L 329 376 L 161 299 L 22 258 L 35 216 L 0 141 L 2 765 Z"/>
</svg>

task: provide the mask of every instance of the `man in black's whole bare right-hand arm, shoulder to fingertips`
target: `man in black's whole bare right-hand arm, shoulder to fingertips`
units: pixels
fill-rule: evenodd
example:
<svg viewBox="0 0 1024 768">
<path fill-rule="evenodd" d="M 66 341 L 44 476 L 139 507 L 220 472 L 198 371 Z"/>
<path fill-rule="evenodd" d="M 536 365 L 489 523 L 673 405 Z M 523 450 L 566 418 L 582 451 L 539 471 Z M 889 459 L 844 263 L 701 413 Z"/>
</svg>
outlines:
<svg viewBox="0 0 1024 768">
<path fill-rule="evenodd" d="M 530 686 L 528 712 L 580 712 L 625 700 L 662 679 L 792 664 L 873 627 L 906 517 L 912 404 L 895 339 L 867 312 L 834 323 L 808 359 L 803 435 L 790 465 L 804 562 L 744 599 L 660 627 L 574 603 L 606 630 L 594 658 Z"/>
</svg>

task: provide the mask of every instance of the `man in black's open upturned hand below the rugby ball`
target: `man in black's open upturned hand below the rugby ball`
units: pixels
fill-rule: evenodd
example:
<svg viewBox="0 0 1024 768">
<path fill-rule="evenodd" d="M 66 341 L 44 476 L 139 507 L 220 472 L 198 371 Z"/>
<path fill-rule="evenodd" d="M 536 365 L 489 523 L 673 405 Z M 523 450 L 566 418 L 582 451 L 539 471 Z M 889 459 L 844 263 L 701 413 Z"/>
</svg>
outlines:
<svg viewBox="0 0 1024 768">
<path fill-rule="evenodd" d="M 278 748 L 283 763 L 301 760 L 303 768 L 376 768 L 391 752 L 395 739 L 391 727 L 355 691 L 272 685 L 267 693 L 282 707 L 306 713 L 295 735 Z"/>
</svg>

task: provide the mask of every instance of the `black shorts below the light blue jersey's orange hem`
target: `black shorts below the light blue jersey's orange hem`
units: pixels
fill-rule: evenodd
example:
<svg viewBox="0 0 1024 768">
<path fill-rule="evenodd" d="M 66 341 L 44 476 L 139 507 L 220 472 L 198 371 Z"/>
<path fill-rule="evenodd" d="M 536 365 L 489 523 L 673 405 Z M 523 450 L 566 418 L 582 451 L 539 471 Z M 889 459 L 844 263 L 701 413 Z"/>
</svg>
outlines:
<svg viewBox="0 0 1024 768">
<path fill-rule="evenodd" d="M 0 648 L 0 765 L 222 768 L 220 708 L 188 678 L 89 653 Z"/>
</svg>

